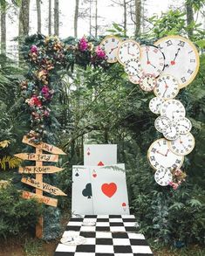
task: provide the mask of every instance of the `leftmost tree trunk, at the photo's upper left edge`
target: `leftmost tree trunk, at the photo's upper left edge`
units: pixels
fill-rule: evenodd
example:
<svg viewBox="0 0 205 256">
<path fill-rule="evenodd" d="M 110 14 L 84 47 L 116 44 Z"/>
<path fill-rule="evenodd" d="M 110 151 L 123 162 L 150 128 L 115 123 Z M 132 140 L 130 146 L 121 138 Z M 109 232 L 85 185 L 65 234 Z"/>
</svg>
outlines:
<svg viewBox="0 0 205 256">
<path fill-rule="evenodd" d="M 1 53 L 6 54 L 6 1 L 1 0 Z"/>
</svg>

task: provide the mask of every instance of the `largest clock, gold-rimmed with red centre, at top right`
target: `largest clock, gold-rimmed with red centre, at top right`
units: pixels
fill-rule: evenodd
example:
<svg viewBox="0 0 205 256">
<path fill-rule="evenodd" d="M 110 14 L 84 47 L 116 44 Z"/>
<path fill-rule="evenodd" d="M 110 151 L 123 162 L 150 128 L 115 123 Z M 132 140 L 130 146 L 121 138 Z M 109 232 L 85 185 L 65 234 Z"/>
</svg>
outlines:
<svg viewBox="0 0 205 256">
<path fill-rule="evenodd" d="M 180 88 L 188 86 L 199 70 L 199 53 L 195 45 L 181 36 L 161 38 L 154 45 L 165 55 L 163 73 L 174 75 L 180 83 Z"/>
</svg>

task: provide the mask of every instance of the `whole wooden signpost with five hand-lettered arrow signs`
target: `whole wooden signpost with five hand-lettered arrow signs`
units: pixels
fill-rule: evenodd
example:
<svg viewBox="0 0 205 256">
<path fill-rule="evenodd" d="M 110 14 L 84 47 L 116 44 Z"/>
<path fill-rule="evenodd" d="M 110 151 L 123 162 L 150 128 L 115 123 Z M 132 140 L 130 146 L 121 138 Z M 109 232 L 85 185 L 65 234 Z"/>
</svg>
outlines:
<svg viewBox="0 0 205 256">
<path fill-rule="evenodd" d="M 27 161 L 36 161 L 35 166 L 24 166 L 19 167 L 18 172 L 22 174 L 35 174 L 36 178 L 23 177 L 22 182 L 28 185 L 31 185 L 36 189 L 36 193 L 31 193 L 30 191 L 22 191 L 22 197 L 25 199 L 36 198 L 38 202 L 57 207 L 58 199 L 51 197 L 45 197 L 43 192 L 50 193 L 53 196 L 66 196 L 66 194 L 58 189 L 57 187 L 51 186 L 48 183 L 43 182 L 43 174 L 54 173 L 63 170 L 56 166 L 44 166 L 44 162 L 58 162 L 58 155 L 66 155 L 61 149 L 58 149 L 55 146 L 49 145 L 47 143 L 41 142 L 35 144 L 31 142 L 26 136 L 24 136 L 23 141 L 25 144 L 28 144 L 36 149 L 35 153 L 20 153 L 14 156 L 17 156 L 20 159 Z M 43 150 L 51 154 L 43 154 Z M 55 155 L 53 155 L 55 154 Z M 38 219 L 38 224 L 36 226 L 36 236 L 39 239 L 43 237 L 43 217 Z"/>
</svg>

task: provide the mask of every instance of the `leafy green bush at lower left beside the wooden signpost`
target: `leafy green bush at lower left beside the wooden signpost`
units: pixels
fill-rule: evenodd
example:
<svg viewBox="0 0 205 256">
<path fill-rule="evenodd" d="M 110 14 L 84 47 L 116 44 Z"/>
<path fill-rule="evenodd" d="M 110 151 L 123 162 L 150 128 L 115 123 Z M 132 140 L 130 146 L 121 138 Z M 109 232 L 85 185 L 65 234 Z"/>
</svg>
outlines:
<svg viewBox="0 0 205 256">
<path fill-rule="evenodd" d="M 4 239 L 31 231 L 42 212 L 41 204 L 21 198 L 13 185 L 0 189 L 0 202 L 0 237 Z"/>
</svg>

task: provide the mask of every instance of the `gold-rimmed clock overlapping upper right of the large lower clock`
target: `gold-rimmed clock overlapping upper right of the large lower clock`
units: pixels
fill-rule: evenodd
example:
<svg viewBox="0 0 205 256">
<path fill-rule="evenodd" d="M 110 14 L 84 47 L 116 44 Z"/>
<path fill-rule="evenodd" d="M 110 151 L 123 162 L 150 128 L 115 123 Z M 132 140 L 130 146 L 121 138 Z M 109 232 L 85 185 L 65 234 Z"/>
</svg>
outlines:
<svg viewBox="0 0 205 256">
<path fill-rule="evenodd" d="M 188 155 L 195 148 L 195 138 L 191 133 L 180 135 L 178 139 L 169 143 L 169 149 L 179 156 Z"/>
</svg>

